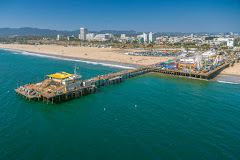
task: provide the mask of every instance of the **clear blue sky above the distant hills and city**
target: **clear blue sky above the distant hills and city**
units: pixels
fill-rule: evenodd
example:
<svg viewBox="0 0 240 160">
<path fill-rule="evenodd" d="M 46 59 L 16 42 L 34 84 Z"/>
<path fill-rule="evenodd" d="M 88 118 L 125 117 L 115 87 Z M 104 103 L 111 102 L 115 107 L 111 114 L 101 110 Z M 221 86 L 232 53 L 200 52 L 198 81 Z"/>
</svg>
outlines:
<svg viewBox="0 0 240 160">
<path fill-rule="evenodd" d="M 240 32 L 240 0 L 0 0 L 0 28 Z"/>
</svg>

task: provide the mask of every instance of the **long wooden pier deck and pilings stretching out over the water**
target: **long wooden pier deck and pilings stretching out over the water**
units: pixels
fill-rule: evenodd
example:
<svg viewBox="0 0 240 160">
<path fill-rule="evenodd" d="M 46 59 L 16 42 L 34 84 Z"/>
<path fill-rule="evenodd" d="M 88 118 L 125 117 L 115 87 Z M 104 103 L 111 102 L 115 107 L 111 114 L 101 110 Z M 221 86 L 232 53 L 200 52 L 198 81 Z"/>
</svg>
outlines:
<svg viewBox="0 0 240 160">
<path fill-rule="evenodd" d="M 34 93 L 30 94 L 26 90 L 23 90 L 23 88 L 21 87 L 15 89 L 15 91 L 17 94 L 23 96 L 29 101 L 35 100 L 35 101 L 43 101 L 43 103 L 46 102 L 47 104 L 49 103 L 53 104 L 53 103 L 61 103 L 64 101 L 68 101 L 70 99 L 79 98 L 87 94 L 94 93 L 96 89 L 100 86 L 118 84 L 123 82 L 126 79 L 139 76 L 145 73 L 149 73 L 149 72 L 156 72 L 156 73 L 169 74 L 169 75 L 175 75 L 175 76 L 184 76 L 184 77 L 197 78 L 197 79 L 211 79 L 212 77 L 216 76 L 219 73 L 219 71 L 221 71 L 226 67 L 229 67 L 229 65 L 230 65 L 229 63 L 225 63 L 221 66 L 218 66 L 214 70 L 206 73 L 199 73 L 197 71 L 183 72 L 180 70 L 167 70 L 167 69 L 157 68 L 155 66 L 148 66 L 148 67 L 142 67 L 142 68 L 137 68 L 132 70 L 120 71 L 117 73 L 100 75 L 91 79 L 86 79 L 83 82 L 90 81 L 91 82 L 90 85 L 77 87 L 70 91 L 46 93 L 46 92 L 42 92 L 41 90 L 34 90 Z"/>
</svg>

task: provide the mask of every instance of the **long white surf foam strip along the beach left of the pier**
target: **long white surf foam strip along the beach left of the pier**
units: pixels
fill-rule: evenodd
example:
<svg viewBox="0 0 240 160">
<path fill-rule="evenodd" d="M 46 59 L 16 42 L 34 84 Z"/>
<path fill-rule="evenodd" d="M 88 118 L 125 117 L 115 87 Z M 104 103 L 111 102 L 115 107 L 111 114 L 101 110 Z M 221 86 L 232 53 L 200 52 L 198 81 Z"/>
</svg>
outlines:
<svg viewBox="0 0 240 160">
<path fill-rule="evenodd" d="M 114 68 L 134 69 L 134 67 L 121 65 L 121 64 L 116 64 L 116 63 L 110 63 L 110 62 L 108 63 L 108 62 L 100 62 L 100 61 L 80 60 L 80 59 L 74 59 L 74 58 L 68 58 L 68 57 L 62 57 L 62 56 L 54 56 L 54 55 L 46 55 L 46 54 L 39 54 L 39 53 L 20 51 L 20 50 L 14 50 L 14 49 L 4 49 L 4 50 L 12 51 L 14 54 L 37 56 L 37 57 L 43 57 L 43 58 L 52 58 L 52 59 L 59 59 L 59 60 L 64 60 L 64 61 L 83 62 L 83 63 L 87 63 L 87 64 L 102 65 L 102 66 L 114 67 Z"/>
</svg>

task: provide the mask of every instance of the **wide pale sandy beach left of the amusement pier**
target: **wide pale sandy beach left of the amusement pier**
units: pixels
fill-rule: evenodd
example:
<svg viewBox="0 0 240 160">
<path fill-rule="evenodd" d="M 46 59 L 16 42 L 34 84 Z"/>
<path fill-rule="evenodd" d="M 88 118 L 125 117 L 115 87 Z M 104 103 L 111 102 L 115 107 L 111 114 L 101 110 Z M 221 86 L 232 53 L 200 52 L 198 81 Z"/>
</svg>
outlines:
<svg viewBox="0 0 240 160">
<path fill-rule="evenodd" d="M 150 57 L 150 56 L 146 57 L 125 55 L 125 53 L 127 52 L 139 51 L 134 49 L 94 48 L 75 46 L 65 47 L 55 45 L 23 45 L 23 44 L 0 44 L 0 48 L 145 66 L 173 59 L 173 57 Z"/>
</svg>

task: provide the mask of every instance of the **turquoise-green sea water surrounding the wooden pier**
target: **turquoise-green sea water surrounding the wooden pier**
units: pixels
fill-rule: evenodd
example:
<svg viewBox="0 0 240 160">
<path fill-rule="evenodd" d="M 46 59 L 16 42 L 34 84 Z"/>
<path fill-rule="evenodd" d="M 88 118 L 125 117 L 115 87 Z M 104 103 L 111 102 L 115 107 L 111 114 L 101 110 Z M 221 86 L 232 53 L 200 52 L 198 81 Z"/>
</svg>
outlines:
<svg viewBox="0 0 240 160">
<path fill-rule="evenodd" d="M 13 90 L 73 66 L 0 50 L 0 159 L 239 159 L 240 85 L 146 74 L 55 105 Z"/>
</svg>

